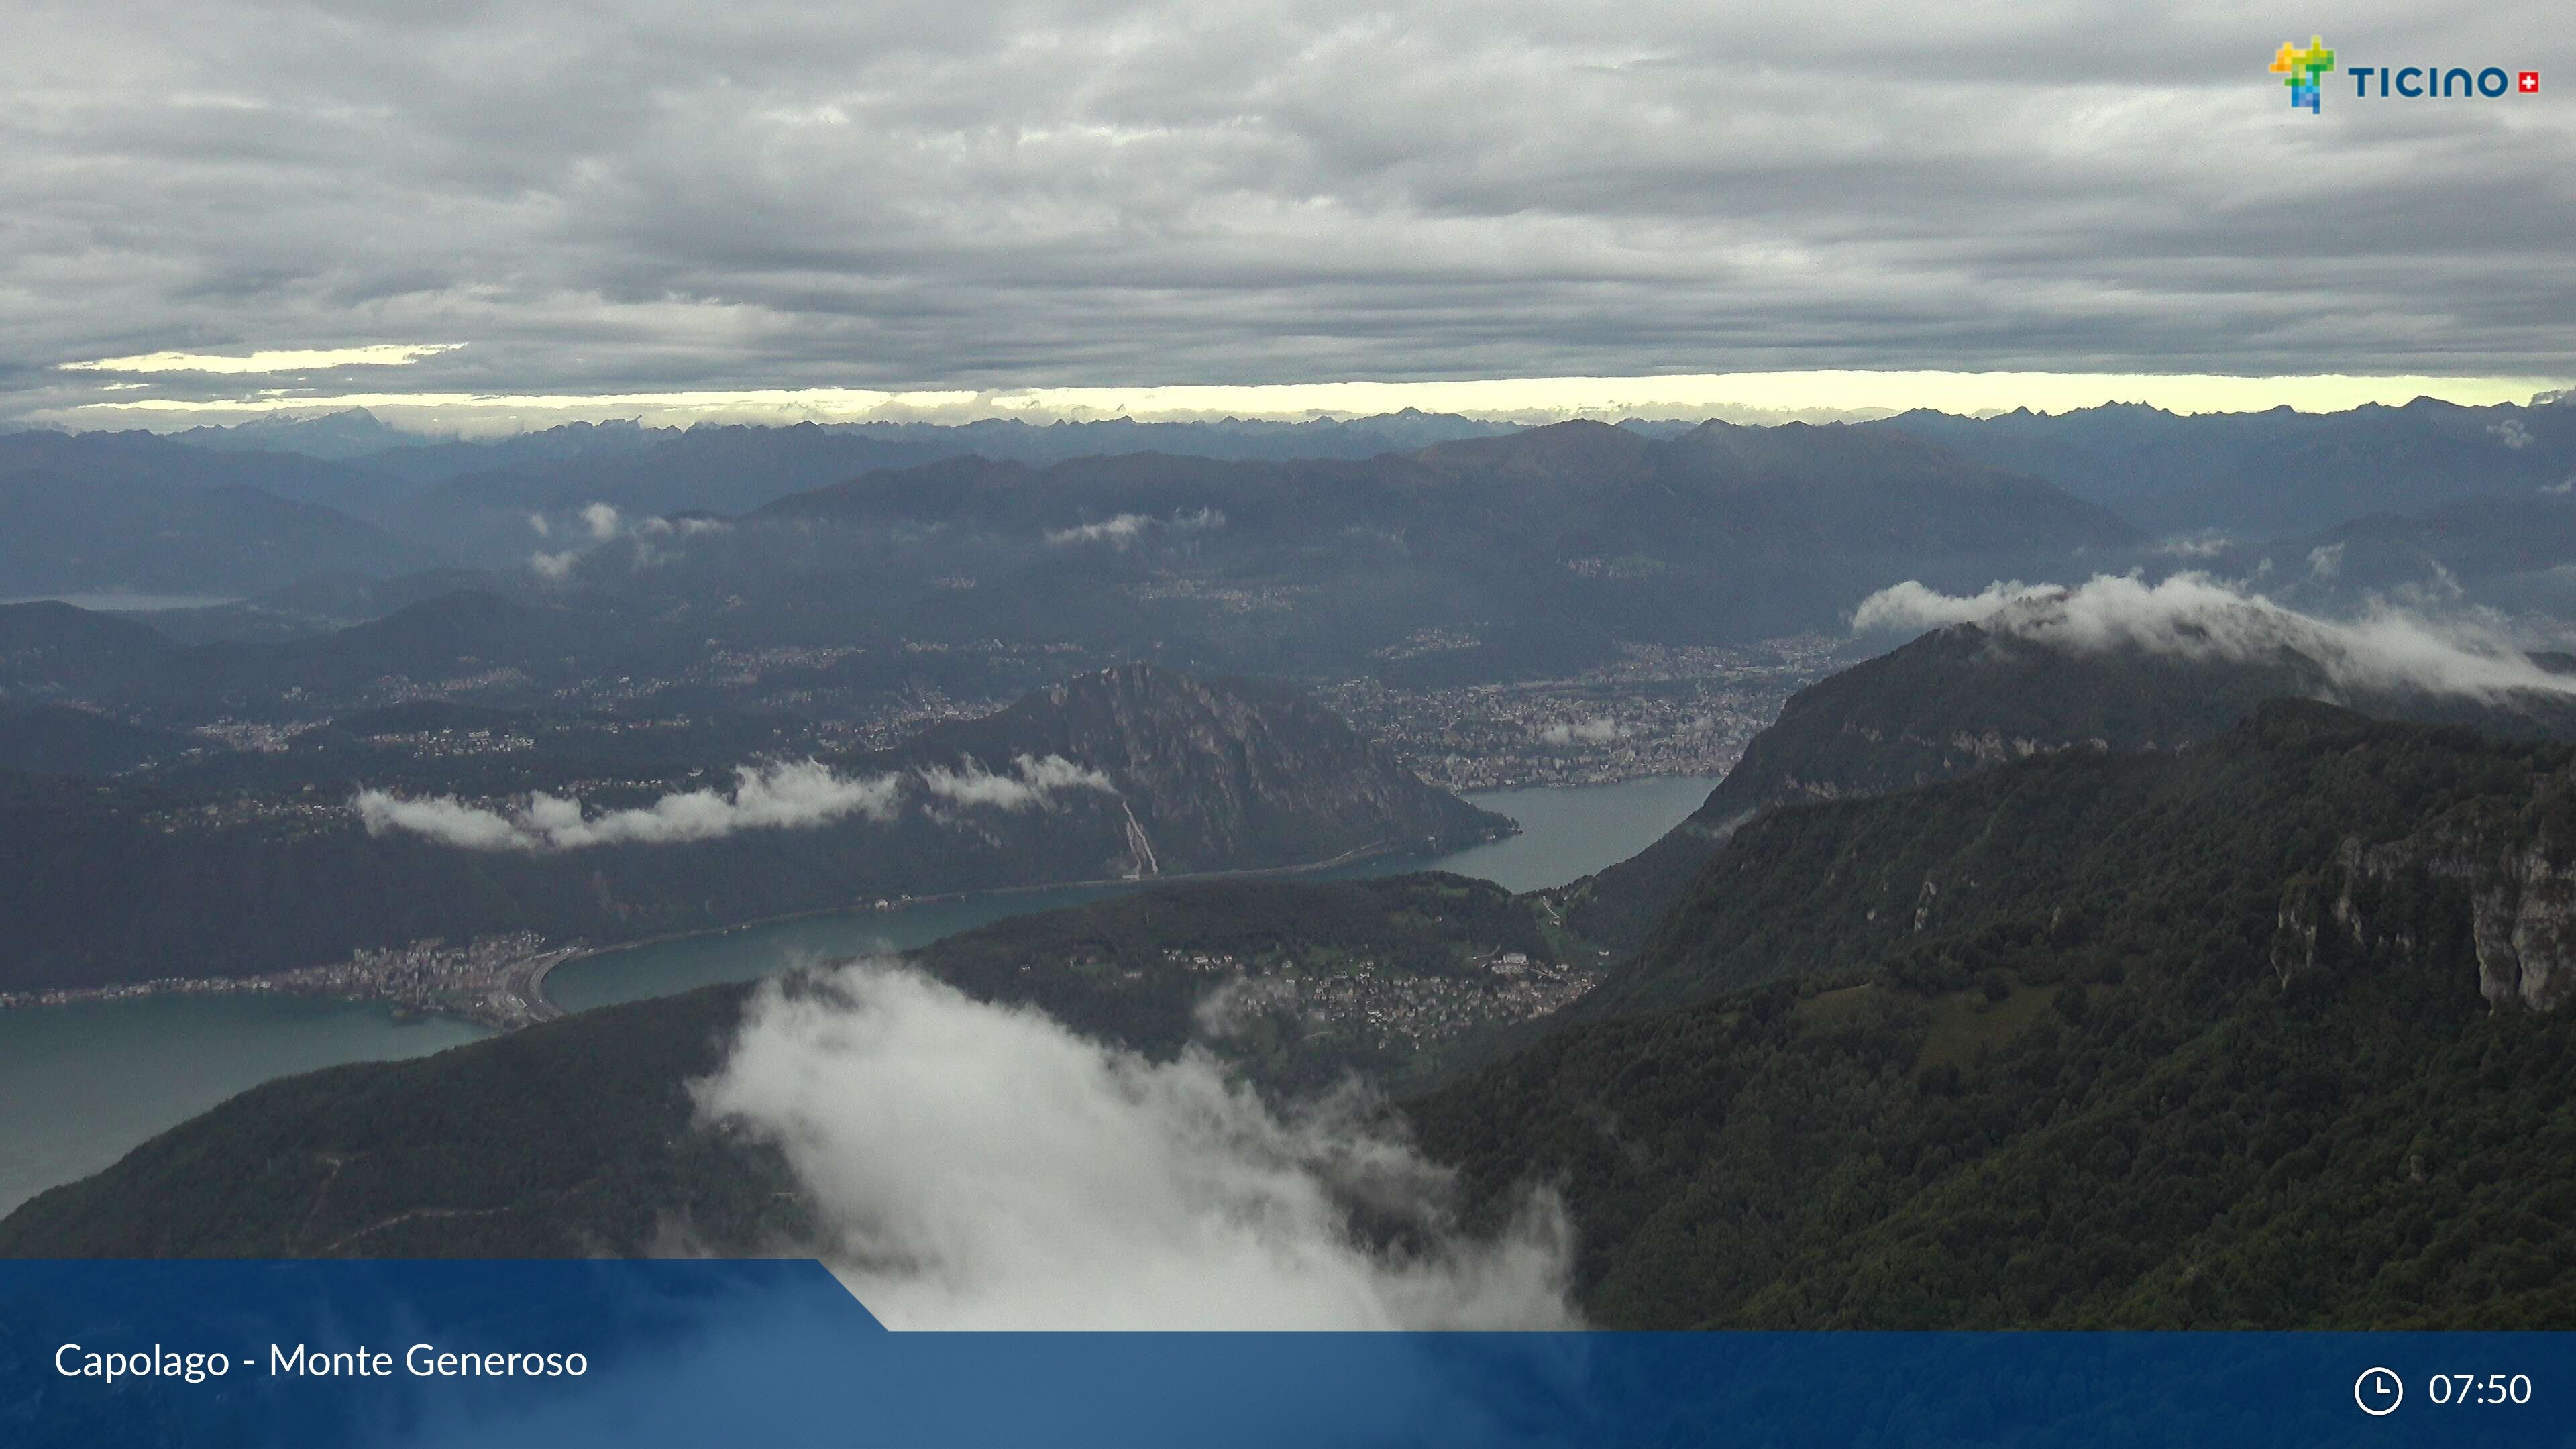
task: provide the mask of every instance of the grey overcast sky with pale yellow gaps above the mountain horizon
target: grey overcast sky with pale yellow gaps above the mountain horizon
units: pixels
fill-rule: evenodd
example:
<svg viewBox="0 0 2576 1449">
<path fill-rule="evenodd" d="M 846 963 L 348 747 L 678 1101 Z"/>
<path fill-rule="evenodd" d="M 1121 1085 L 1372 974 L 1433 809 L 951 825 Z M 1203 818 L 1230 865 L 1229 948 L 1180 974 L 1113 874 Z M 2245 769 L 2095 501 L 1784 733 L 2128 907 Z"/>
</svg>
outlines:
<svg viewBox="0 0 2576 1449">
<path fill-rule="evenodd" d="M 2576 374 L 2558 3 L 1834 10 L 15 0 L 0 418 Z M 2308 116 L 2264 67 L 2316 28 L 2555 90 Z M 260 351 L 325 356 L 64 369 Z"/>
</svg>

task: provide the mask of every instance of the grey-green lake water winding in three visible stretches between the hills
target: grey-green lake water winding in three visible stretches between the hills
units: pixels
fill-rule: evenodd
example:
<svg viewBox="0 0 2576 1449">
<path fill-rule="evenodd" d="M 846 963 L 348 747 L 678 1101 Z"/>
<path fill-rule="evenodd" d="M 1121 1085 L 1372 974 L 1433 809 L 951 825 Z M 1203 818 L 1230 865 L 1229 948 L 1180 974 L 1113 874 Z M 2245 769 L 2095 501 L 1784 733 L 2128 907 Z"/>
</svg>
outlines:
<svg viewBox="0 0 2576 1449">
<path fill-rule="evenodd" d="M 1708 779 L 1499 789 L 1466 799 L 1522 833 L 1437 859 L 1383 859 L 1321 879 L 1445 869 L 1507 890 L 1566 884 L 1643 851 L 1700 807 Z M 603 951 L 559 967 L 546 993 L 569 1011 L 752 980 L 799 959 L 904 951 L 1007 915 L 1100 900 L 1126 887 L 1056 887 L 848 910 L 714 936 Z M 461 1021 L 276 995 L 149 995 L 0 1011 L 0 1214 L 134 1150 L 209 1106 L 289 1073 L 420 1057 L 484 1036 Z"/>
</svg>

